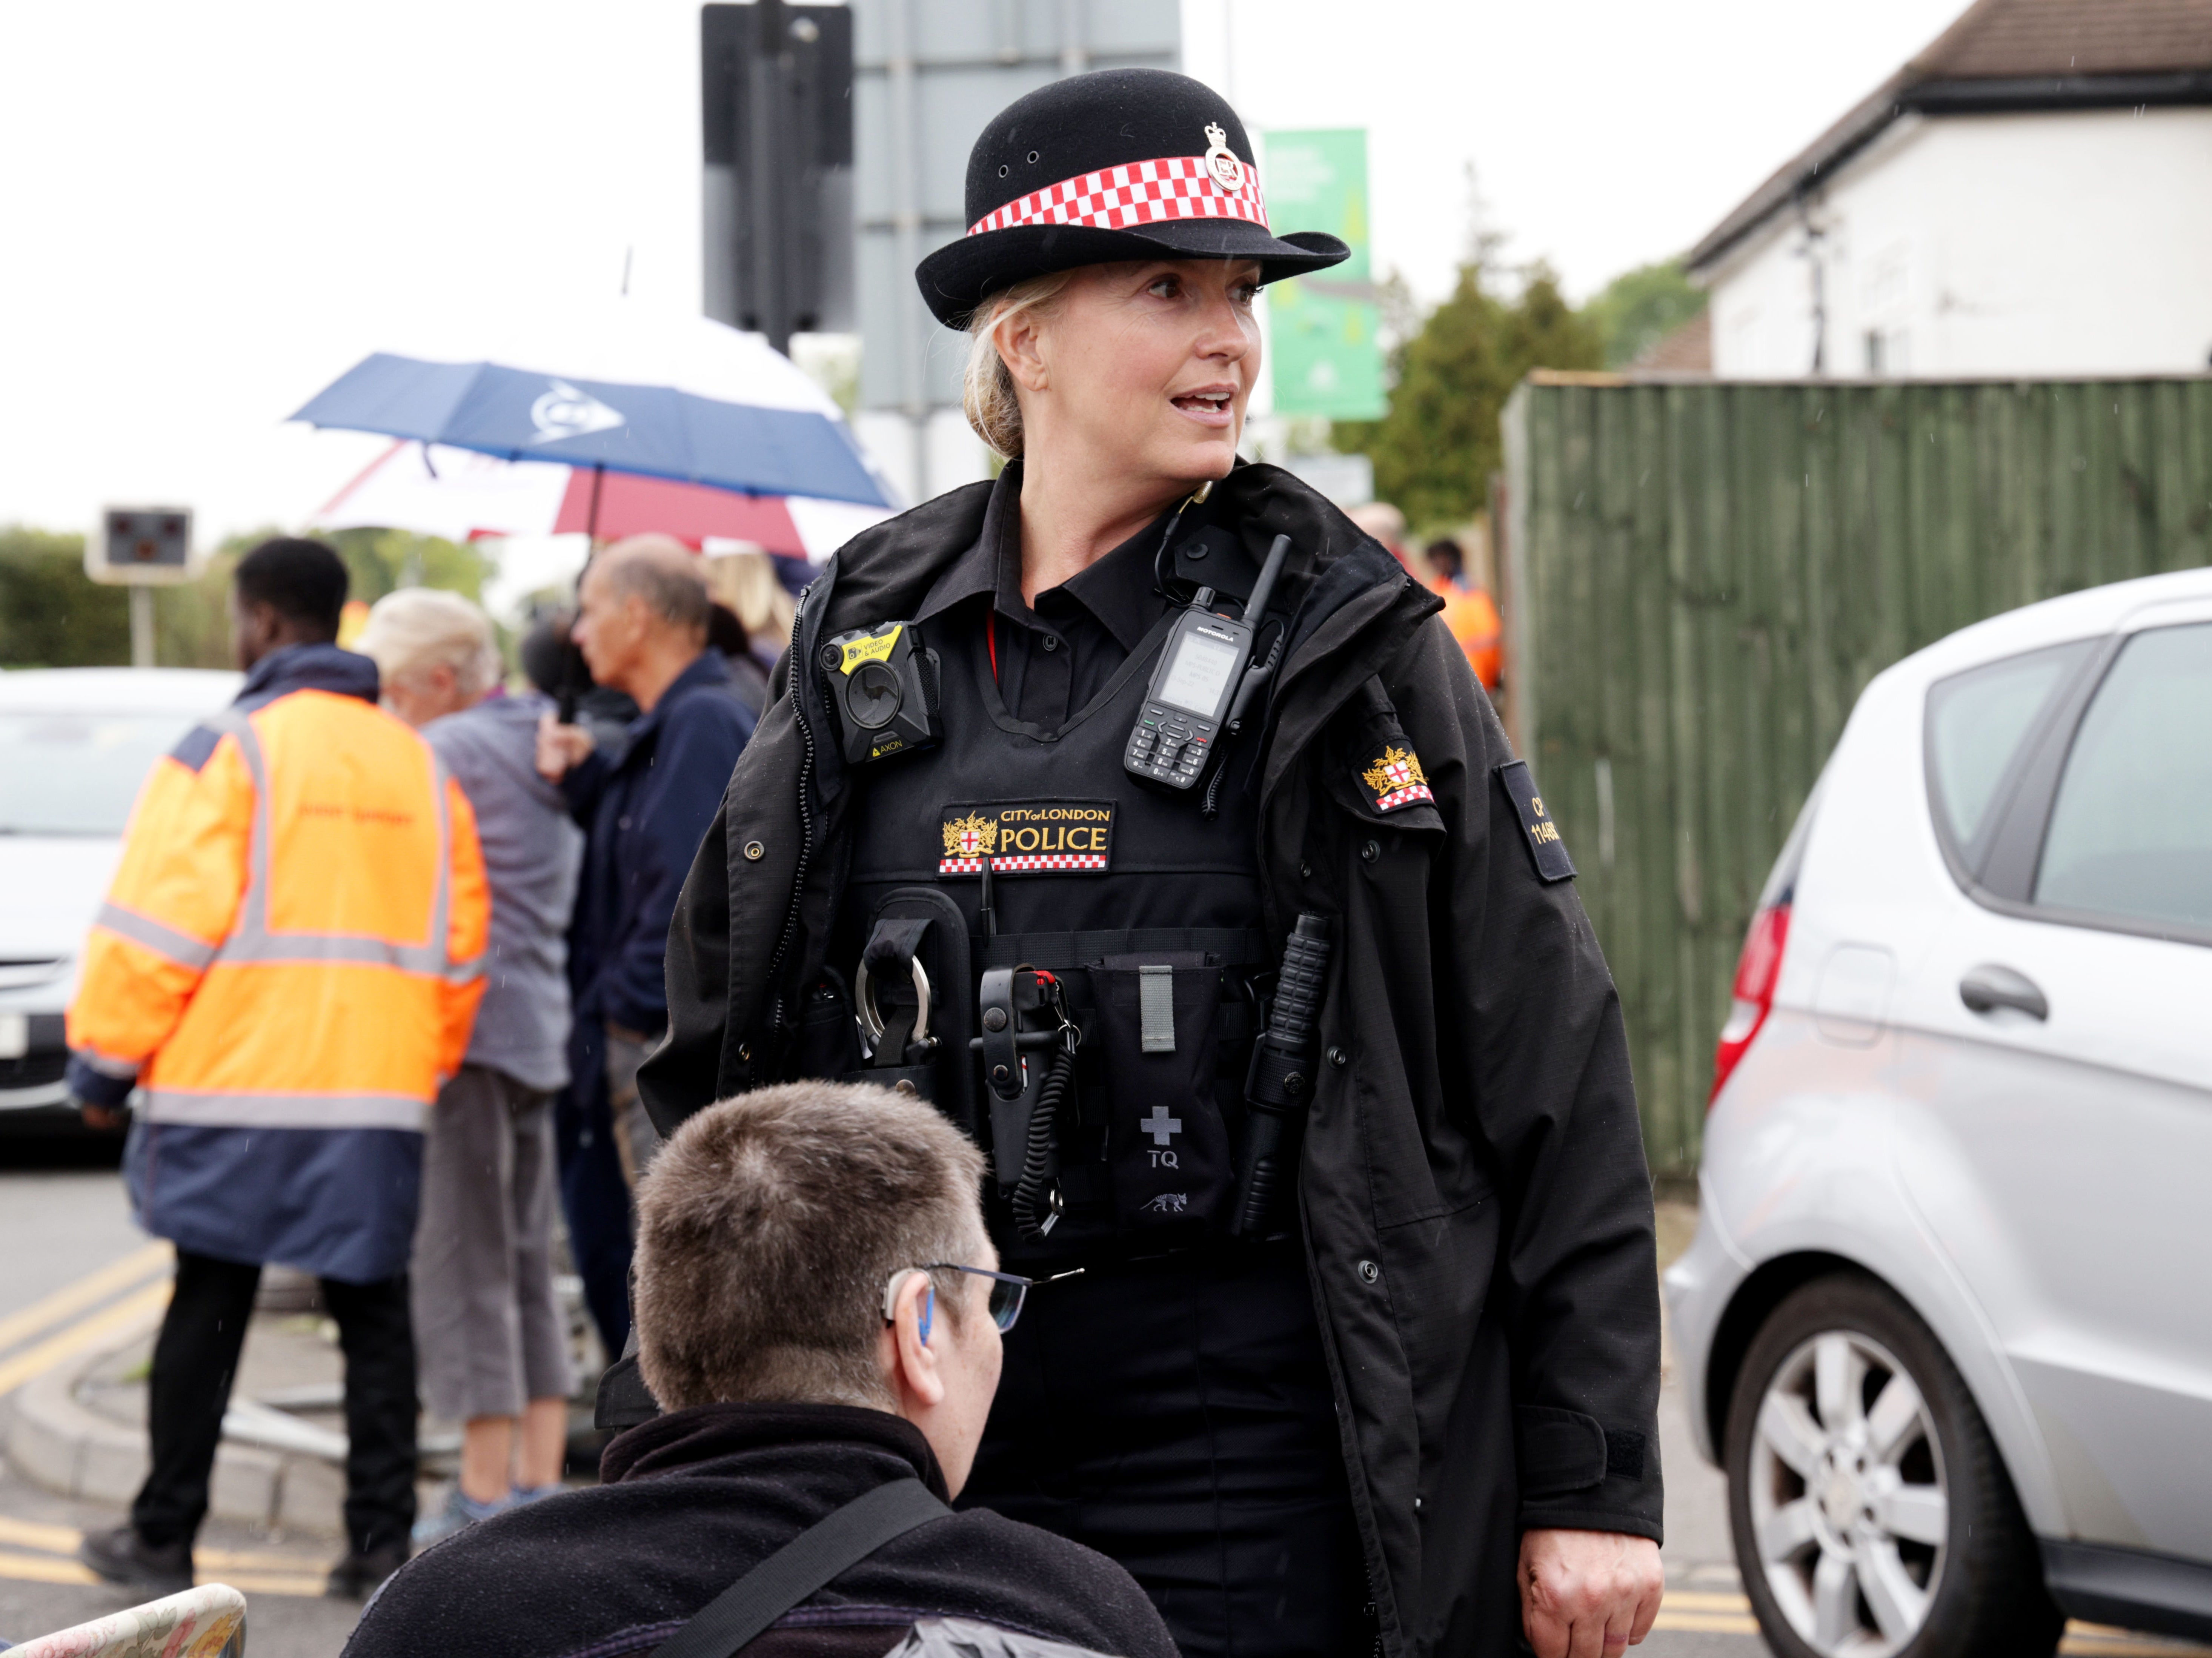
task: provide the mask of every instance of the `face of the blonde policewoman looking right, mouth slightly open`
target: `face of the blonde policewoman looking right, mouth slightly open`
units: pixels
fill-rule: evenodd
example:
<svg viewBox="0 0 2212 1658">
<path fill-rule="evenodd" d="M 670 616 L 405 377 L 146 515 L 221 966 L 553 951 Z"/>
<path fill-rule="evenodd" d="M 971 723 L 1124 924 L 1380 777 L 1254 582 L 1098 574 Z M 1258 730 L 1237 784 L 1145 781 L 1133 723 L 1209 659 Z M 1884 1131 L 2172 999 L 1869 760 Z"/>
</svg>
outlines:
<svg viewBox="0 0 2212 1658">
<path fill-rule="evenodd" d="M 1133 482 L 1225 478 L 1259 376 L 1256 294 L 1252 261 L 1075 272 L 1015 363 L 1031 466 L 1064 451 Z"/>
</svg>

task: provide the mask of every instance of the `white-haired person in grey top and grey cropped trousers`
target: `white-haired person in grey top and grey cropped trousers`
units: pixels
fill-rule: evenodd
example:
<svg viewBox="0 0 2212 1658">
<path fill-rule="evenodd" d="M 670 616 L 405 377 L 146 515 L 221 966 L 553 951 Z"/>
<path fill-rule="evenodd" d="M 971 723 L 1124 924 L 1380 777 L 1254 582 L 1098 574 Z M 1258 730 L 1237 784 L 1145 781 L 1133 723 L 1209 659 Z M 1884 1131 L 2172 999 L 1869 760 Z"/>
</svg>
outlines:
<svg viewBox="0 0 2212 1658">
<path fill-rule="evenodd" d="M 500 690 L 482 610 L 400 588 L 361 650 L 476 809 L 491 882 L 487 988 L 422 1154 L 414 1326 L 425 1399 L 462 1421 L 460 1479 L 416 1525 L 434 1543 L 560 1488 L 575 1368 L 553 1291 L 553 1114 L 568 1081 L 568 911 L 584 836 L 533 765 L 551 703 Z"/>
</svg>

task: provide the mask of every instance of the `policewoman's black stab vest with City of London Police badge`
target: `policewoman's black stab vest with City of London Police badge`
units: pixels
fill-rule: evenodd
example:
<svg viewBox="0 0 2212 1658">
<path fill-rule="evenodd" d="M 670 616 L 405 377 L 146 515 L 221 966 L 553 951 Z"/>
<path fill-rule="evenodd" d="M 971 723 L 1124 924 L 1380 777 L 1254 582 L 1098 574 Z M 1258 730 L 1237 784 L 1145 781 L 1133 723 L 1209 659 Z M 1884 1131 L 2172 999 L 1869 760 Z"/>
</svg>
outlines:
<svg viewBox="0 0 2212 1658">
<path fill-rule="evenodd" d="M 1015 1271 L 1201 1242 L 1221 1231 L 1234 1194 L 1252 979 L 1267 968 L 1259 743 L 1230 743 L 1214 763 L 1225 774 L 1212 818 L 1203 785 L 1168 791 L 1121 769 L 1170 623 L 1172 612 L 1060 730 L 1006 710 L 975 606 L 918 623 L 942 659 L 942 741 L 856 776 L 830 955 L 838 977 L 810 1001 L 807 1070 L 907 1081 L 969 1130 L 998 1174 L 987 1211 Z M 984 858 L 993 937 L 982 926 Z M 874 1063 L 849 1066 L 847 1008 L 865 955 L 865 990 L 889 1039 Z M 916 1012 L 905 955 L 929 982 L 933 1041 L 916 1046 L 902 1043 Z M 1064 1209 L 1042 1242 L 1018 1236 L 1009 1214 L 1022 1145 L 995 1143 L 1006 1116 L 991 1110 L 980 1054 L 978 982 L 1024 964 L 1060 977 L 1082 1032 L 1057 1123 Z"/>
</svg>

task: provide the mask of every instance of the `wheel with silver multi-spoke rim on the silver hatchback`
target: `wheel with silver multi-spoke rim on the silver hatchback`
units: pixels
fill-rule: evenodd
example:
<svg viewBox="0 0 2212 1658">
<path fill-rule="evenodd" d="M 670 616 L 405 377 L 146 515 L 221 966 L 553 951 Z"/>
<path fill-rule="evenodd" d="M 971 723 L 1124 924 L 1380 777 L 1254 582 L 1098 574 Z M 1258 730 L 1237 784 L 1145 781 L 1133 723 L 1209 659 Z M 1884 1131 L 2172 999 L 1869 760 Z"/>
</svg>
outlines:
<svg viewBox="0 0 2212 1658">
<path fill-rule="evenodd" d="M 1728 1408 L 1728 1519 L 1781 1658 L 2044 1658 L 2064 1616 L 1958 1368 L 1860 1273 L 1796 1289 Z"/>
</svg>

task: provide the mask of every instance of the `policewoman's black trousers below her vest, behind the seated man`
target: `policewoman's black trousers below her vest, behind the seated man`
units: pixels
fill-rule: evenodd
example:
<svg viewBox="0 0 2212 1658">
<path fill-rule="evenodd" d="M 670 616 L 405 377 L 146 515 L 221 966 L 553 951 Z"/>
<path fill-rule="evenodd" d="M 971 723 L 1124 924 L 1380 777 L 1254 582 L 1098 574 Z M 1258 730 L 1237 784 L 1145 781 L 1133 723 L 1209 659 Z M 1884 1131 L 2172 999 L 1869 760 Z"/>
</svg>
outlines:
<svg viewBox="0 0 2212 1658">
<path fill-rule="evenodd" d="M 1119 1561 L 1183 1658 L 1363 1658 L 1376 1625 L 1296 1249 L 1029 1295 L 962 1508 Z"/>
</svg>

